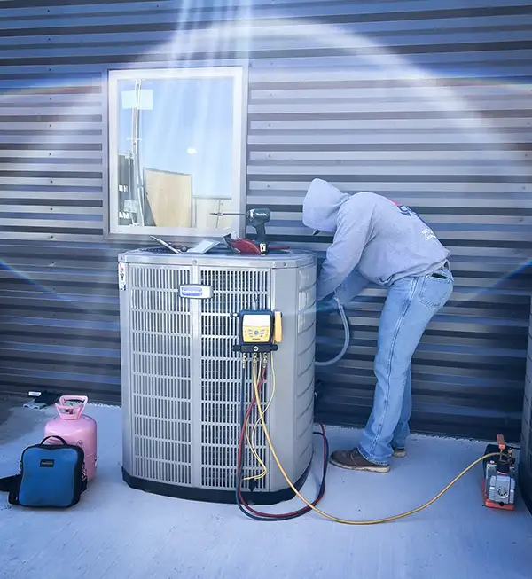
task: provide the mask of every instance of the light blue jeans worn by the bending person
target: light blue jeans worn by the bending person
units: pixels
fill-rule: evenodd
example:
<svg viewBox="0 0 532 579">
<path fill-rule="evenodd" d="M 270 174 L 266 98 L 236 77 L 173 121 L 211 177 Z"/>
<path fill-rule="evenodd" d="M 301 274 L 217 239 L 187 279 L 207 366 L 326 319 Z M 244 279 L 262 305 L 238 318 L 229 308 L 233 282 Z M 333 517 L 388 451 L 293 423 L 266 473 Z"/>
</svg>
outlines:
<svg viewBox="0 0 532 579">
<path fill-rule="evenodd" d="M 373 409 L 357 450 L 387 465 L 394 448 L 410 434 L 411 358 L 426 325 L 449 300 L 454 278 L 447 268 L 429 276 L 403 278 L 389 288 L 379 323 Z"/>
</svg>

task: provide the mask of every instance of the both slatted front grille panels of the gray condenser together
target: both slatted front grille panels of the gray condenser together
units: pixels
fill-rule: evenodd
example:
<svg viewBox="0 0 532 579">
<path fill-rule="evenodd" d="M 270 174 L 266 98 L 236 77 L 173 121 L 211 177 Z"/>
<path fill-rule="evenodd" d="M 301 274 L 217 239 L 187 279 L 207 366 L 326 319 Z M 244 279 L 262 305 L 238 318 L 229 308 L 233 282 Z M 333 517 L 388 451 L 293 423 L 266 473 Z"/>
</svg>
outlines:
<svg viewBox="0 0 532 579">
<path fill-rule="evenodd" d="M 241 357 L 232 351 L 241 309 L 269 307 L 268 270 L 203 269 L 200 284 L 214 295 L 192 301 L 179 297 L 179 286 L 192 283 L 190 270 L 132 266 L 130 269 L 130 351 L 135 475 L 154 481 L 192 484 L 192 464 L 199 460 L 204 488 L 234 489 L 239 440 Z M 192 345 L 192 320 L 198 316 L 200 349 Z M 200 360 L 194 358 L 200 356 Z M 270 397 L 270 382 L 262 401 Z M 246 402 L 253 384 L 247 379 Z M 200 446 L 192 447 L 196 419 Z M 258 419 L 251 416 L 252 425 Z M 254 442 L 266 462 L 262 428 Z M 195 442 L 198 444 L 198 442 Z M 245 476 L 261 469 L 246 450 Z M 264 489 L 266 477 L 257 489 Z"/>
</svg>

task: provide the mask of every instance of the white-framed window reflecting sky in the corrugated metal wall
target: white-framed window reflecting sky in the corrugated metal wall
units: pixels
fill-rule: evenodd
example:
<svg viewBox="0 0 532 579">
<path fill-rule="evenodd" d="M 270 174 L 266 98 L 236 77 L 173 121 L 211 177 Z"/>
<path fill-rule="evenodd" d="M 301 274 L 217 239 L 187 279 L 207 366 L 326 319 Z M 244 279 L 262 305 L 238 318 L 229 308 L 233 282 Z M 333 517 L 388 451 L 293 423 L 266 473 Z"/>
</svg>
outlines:
<svg viewBox="0 0 532 579">
<path fill-rule="evenodd" d="M 167 237 L 240 232 L 241 67 L 109 73 L 109 231 Z"/>
</svg>

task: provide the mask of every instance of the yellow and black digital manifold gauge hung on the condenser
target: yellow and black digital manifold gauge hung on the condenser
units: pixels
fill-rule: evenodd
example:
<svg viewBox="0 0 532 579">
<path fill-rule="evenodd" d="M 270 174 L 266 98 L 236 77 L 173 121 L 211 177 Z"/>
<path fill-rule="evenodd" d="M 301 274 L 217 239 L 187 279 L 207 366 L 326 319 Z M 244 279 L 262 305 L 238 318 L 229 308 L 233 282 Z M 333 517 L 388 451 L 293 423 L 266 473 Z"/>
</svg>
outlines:
<svg viewBox="0 0 532 579">
<path fill-rule="evenodd" d="M 270 309 L 239 313 L 239 352 L 258 353 L 277 350 L 281 341 L 281 313 Z"/>
</svg>

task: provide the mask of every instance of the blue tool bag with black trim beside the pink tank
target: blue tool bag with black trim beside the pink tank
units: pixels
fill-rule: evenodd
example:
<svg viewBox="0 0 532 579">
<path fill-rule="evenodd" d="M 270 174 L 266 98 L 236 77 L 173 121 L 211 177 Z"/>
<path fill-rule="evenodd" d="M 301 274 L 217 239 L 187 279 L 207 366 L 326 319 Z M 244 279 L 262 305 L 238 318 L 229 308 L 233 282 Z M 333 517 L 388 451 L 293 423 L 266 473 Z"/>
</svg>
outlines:
<svg viewBox="0 0 532 579">
<path fill-rule="evenodd" d="M 44 444 L 56 438 L 60 444 Z M 83 450 L 59 436 L 47 436 L 28 446 L 20 458 L 20 473 L 0 479 L 12 505 L 33 508 L 67 508 L 76 505 L 87 489 Z"/>
</svg>

